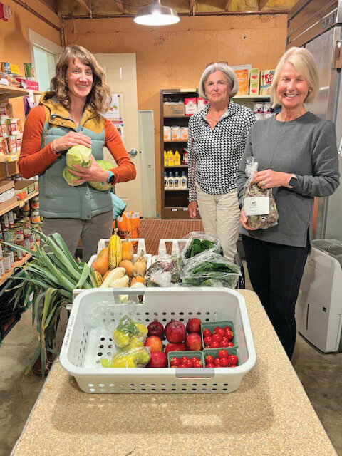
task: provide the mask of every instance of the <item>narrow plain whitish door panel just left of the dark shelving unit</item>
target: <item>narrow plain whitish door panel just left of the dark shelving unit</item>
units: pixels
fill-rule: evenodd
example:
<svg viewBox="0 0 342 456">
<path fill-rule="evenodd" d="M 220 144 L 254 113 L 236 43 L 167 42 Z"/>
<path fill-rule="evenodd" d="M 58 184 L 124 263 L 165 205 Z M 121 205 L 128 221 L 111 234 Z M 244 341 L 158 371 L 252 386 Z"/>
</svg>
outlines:
<svg viewBox="0 0 342 456">
<path fill-rule="evenodd" d="M 145 218 L 154 218 L 157 214 L 155 197 L 155 122 L 153 110 L 138 111 L 139 154 L 141 160 L 142 214 Z"/>
</svg>

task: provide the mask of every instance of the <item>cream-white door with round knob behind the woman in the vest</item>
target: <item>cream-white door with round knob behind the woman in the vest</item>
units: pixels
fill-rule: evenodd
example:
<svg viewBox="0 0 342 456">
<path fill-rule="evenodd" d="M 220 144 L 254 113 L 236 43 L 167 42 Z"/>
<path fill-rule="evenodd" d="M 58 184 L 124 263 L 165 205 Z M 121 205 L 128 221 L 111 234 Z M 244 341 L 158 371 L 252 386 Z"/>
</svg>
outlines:
<svg viewBox="0 0 342 456">
<path fill-rule="evenodd" d="M 135 53 L 94 55 L 105 71 L 111 92 L 120 95 L 120 118 L 123 123 L 125 147 L 128 152 L 130 150 L 137 152 L 136 155 L 134 155 L 135 152 L 130 155 L 137 170 L 137 177 L 130 182 L 115 185 L 115 193 L 127 203 L 127 211 L 136 211 L 142 215 Z M 104 159 L 115 163 L 107 149 L 105 149 Z"/>
</svg>

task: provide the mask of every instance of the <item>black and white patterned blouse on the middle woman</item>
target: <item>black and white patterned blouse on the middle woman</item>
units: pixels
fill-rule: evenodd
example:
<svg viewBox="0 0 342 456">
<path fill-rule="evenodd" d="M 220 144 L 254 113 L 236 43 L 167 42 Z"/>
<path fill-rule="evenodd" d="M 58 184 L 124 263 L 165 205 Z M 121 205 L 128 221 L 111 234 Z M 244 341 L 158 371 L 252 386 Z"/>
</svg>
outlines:
<svg viewBox="0 0 342 456">
<path fill-rule="evenodd" d="M 189 120 L 189 201 L 196 201 L 197 185 L 209 195 L 222 195 L 237 188 L 236 177 L 254 113 L 230 100 L 214 130 L 207 121 L 207 105 Z"/>
</svg>

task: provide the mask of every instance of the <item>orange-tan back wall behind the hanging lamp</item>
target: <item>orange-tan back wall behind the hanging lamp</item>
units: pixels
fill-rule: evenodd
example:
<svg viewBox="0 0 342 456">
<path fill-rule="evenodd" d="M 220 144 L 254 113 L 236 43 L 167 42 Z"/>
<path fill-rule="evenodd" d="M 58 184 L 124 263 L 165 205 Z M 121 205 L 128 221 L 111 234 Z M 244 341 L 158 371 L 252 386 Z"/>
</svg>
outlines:
<svg viewBox="0 0 342 456">
<path fill-rule="evenodd" d="M 66 21 L 66 42 L 93 53 L 137 58 L 138 108 L 155 112 L 157 212 L 160 213 L 159 90 L 197 87 L 210 61 L 274 68 L 285 50 L 286 14 L 182 17 L 175 26 L 138 26 L 133 19 Z"/>
</svg>

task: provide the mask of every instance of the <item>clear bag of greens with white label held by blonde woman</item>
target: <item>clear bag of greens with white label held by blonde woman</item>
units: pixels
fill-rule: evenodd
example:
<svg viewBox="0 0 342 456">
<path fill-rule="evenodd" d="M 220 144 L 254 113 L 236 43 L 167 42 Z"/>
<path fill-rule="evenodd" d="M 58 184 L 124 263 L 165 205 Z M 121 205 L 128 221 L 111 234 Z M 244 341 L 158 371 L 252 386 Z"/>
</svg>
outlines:
<svg viewBox="0 0 342 456">
<path fill-rule="evenodd" d="M 247 182 L 244 185 L 244 214 L 247 216 L 249 227 L 266 229 L 278 224 L 278 209 L 271 188 L 259 187 L 253 178 L 258 171 L 258 162 L 254 157 L 247 158 Z"/>
</svg>

